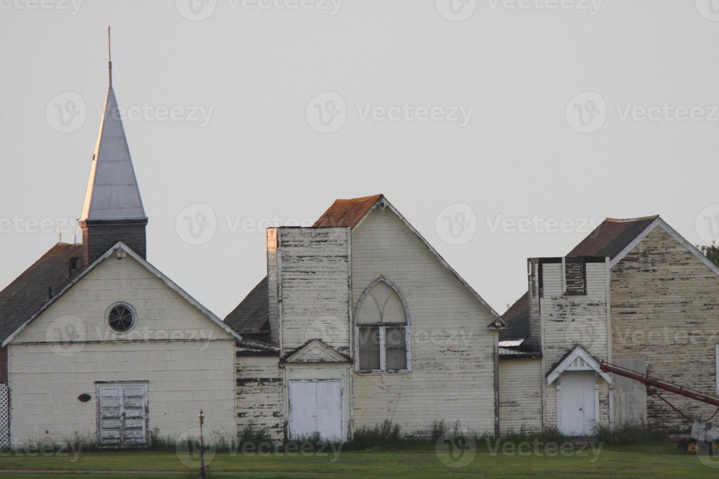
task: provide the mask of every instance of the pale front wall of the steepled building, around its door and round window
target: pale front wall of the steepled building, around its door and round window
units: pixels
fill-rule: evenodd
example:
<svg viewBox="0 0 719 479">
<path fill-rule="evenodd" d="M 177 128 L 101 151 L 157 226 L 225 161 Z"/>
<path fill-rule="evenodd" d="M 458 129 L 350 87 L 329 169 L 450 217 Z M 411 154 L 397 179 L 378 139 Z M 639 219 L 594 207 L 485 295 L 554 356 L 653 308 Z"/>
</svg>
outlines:
<svg viewBox="0 0 719 479">
<path fill-rule="evenodd" d="M 137 311 L 130 341 L 107 334 L 105 312 L 118 301 Z M 80 337 L 104 342 L 83 343 L 75 355 L 53 353 L 45 332 L 67 316 L 81 321 Z M 144 340 L 173 331 L 177 340 Z M 111 256 L 8 346 L 13 440 L 65 440 L 74 432 L 94 437 L 95 381 L 149 381 L 150 429 L 159 427 L 162 436 L 196 427 L 203 409 L 210 431 L 234 437 L 234 350 L 232 336 L 150 271 L 129 256 Z M 91 401 L 78 401 L 83 393 Z"/>
</svg>

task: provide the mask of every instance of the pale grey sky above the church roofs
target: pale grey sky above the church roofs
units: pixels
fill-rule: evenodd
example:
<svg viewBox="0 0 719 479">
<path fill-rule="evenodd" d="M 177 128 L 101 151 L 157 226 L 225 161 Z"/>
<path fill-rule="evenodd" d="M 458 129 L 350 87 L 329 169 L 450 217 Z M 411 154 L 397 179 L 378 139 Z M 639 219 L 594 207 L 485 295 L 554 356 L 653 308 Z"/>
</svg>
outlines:
<svg viewBox="0 0 719 479">
<path fill-rule="evenodd" d="M 266 273 L 264 228 L 336 198 L 385 194 L 500 313 L 528 257 L 605 217 L 719 240 L 717 1 L 0 10 L 0 287 L 74 241 L 108 26 L 147 259 L 220 317 Z"/>
</svg>

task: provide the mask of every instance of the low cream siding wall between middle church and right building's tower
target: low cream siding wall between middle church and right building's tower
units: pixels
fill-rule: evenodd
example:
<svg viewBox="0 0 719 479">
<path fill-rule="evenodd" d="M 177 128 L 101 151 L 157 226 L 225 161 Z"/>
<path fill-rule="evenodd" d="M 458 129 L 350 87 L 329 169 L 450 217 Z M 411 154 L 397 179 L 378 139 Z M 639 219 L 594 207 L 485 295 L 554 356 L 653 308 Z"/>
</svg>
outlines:
<svg viewBox="0 0 719 479">
<path fill-rule="evenodd" d="M 500 360 L 499 377 L 501 433 L 541 432 L 541 360 Z"/>
</svg>

